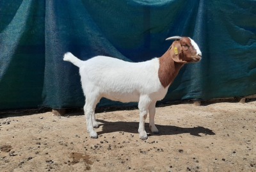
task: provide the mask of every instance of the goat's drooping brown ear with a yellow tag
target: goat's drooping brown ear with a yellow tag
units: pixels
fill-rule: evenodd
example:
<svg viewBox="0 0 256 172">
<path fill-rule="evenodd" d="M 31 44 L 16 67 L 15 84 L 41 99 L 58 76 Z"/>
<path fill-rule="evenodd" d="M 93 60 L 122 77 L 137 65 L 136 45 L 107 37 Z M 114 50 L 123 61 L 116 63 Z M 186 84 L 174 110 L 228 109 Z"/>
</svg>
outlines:
<svg viewBox="0 0 256 172">
<path fill-rule="evenodd" d="M 182 59 L 183 52 L 179 41 L 172 43 L 172 48 L 170 49 L 172 59 L 177 63 L 187 63 Z"/>
</svg>

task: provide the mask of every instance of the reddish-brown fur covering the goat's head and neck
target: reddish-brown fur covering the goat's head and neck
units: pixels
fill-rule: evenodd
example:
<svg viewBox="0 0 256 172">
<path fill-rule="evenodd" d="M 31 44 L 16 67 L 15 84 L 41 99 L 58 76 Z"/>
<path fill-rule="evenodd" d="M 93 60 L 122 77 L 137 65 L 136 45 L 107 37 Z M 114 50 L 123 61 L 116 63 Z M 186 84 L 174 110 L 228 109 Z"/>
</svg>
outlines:
<svg viewBox="0 0 256 172">
<path fill-rule="evenodd" d="M 178 55 L 175 55 L 175 47 L 178 49 Z M 170 49 L 159 58 L 158 76 L 162 86 L 166 88 L 172 84 L 185 63 L 196 62 L 193 58 L 195 56 L 196 50 L 189 38 L 182 37 L 181 40 L 173 42 Z"/>
</svg>

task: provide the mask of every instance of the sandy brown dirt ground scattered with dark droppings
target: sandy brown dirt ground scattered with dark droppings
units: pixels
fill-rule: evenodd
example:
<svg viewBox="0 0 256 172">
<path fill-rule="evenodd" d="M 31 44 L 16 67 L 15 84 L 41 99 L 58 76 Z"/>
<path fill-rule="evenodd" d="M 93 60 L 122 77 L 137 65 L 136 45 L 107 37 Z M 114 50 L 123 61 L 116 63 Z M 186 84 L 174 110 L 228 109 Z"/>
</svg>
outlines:
<svg viewBox="0 0 256 172">
<path fill-rule="evenodd" d="M 256 171 L 256 101 L 157 107 L 147 141 L 138 110 L 97 113 L 98 139 L 82 114 L 0 114 L 0 171 Z"/>
</svg>

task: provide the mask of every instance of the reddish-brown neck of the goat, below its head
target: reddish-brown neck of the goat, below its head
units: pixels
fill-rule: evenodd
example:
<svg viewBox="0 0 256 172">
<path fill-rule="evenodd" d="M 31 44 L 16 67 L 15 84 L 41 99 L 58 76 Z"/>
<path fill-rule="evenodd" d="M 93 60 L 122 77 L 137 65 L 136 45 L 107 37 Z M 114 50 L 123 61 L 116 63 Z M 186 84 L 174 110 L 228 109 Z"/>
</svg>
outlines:
<svg viewBox="0 0 256 172">
<path fill-rule="evenodd" d="M 164 88 L 172 84 L 184 63 L 177 63 L 173 60 L 171 48 L 159 58 L 158 77 Z"/>
</svg>

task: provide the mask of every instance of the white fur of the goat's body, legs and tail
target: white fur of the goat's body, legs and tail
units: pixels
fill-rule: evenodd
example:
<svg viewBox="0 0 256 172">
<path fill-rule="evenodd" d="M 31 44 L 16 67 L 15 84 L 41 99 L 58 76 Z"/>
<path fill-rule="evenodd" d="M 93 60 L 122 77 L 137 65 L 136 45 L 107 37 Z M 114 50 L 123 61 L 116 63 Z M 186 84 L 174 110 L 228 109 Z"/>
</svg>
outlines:
<svg viewBox="0 0 256 172">
<path fill-rule="evenodd" d="M 87 61 L 81 61 L 67 52 L 64 60 L 79 66 L 86 97 L 84 113 L 91 137 L 97 137 L 93 129 L 93 127 L 98 127 L 94 110 L 102 97 L 120 102 L 139 102 L 140 138 L 147 139 L 144 125 L 147 113 L 150 116 L 150 130 L 154 133 L 158 132 L 154 123 L 156 102 L 163 99 L 168 90 L 168 87 L 164 88 L 159 81 L 158 58 L 141 63 L 131 63 L 106 56 L 96 56 Z"/>
</svg>

